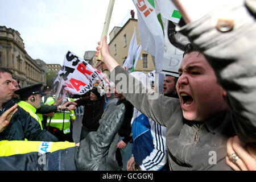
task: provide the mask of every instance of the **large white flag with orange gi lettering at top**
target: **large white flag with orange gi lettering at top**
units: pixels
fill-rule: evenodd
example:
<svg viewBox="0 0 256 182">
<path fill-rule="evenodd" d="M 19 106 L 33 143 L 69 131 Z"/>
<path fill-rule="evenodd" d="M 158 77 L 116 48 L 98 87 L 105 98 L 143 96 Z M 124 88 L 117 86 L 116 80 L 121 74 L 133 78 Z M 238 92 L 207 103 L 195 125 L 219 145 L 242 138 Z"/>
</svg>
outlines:
<svg viewBox="0 0 256 182">
<path fill-rule="evenodd" d="M 133 0 L 138 10 L 139 36 L 142 49 L 155 56 L 156 73 L 163 69 L 164 35 L 156 16 L 154 0 Z"/>
</svg>

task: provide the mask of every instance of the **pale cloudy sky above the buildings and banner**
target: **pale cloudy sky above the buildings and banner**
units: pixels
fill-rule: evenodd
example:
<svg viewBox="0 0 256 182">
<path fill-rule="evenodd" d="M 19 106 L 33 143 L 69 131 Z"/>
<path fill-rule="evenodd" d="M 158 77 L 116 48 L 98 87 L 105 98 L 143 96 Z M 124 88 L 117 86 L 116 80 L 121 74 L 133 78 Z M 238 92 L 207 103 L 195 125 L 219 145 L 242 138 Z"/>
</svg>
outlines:
<svg viewBox="0 0 256 182">
<path fill-rule="evenodd" d="M 101 39 L 108 0 L 0 0 L 0 26 L 20 33 L 32 59 L 63 65 L 71 51 L 84 57 Z M 122 26 L 136 7 L 132 0 L 115 0 L 109 31 Z"/>
</svg>

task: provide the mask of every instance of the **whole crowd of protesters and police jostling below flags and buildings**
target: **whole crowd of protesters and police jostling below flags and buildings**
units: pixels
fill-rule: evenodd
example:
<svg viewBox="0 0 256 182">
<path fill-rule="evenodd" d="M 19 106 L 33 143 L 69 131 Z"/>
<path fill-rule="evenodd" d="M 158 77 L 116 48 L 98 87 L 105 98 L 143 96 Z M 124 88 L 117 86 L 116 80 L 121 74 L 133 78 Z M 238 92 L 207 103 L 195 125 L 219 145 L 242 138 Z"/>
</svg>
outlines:
<svg viewBox="0 0 256 182">
<path fill-rule="evenodd" d="M 189 1 L 174 2 L 184 20 L 177 30 L 191 43 L 163 94 L 113 59 L 106 36 L 96 56 L 113 82 L 75 101 L 44 96 L 42 84 L 20 88 L 0 68 L 0 170 L 256 170 L 255 3 L 231 1 L 201 18 Z"/>
</svg>

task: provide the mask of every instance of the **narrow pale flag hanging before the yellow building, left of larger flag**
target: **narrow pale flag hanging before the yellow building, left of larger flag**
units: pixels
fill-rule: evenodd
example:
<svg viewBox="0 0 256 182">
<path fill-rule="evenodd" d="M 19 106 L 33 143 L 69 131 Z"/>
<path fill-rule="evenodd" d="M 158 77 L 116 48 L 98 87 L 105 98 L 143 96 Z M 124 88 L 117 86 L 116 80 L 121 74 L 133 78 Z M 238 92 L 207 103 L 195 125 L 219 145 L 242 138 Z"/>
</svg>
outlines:
<svg viewBox="0 0 256 182">
<path fill-rule="evenodd" d="M 125 60 L 125 63 L 123 63 L 123 68 L 125 68 L 129 72 L 131 72 L 131 69 L 133 68 L 133 65 L 135 63 L 135 59 L 137 56 L 137 47 L 138 45 L 137 45 L 136 27 L 134 27 L 133 37 L 131 38 L 131 42 L 129 45 L 128 56 Z"/>
</svg>

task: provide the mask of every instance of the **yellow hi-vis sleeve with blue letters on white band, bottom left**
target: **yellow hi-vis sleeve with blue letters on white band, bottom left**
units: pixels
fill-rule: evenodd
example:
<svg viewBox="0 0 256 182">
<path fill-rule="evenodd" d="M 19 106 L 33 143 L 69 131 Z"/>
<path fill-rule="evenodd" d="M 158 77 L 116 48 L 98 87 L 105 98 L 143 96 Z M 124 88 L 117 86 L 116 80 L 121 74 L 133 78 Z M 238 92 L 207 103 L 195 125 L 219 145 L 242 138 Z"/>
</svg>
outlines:
<svg viewBox="0 0 256 182">
<path fill-rule="evenodd" d="M 41 141 L 0 141 L 0 156 L 10 156 L 16 154 L 27 154 L 29 152 L 54 152 L 57 150 L 75 147 L 73 142 L 41 142 Z"/>
</svg>

